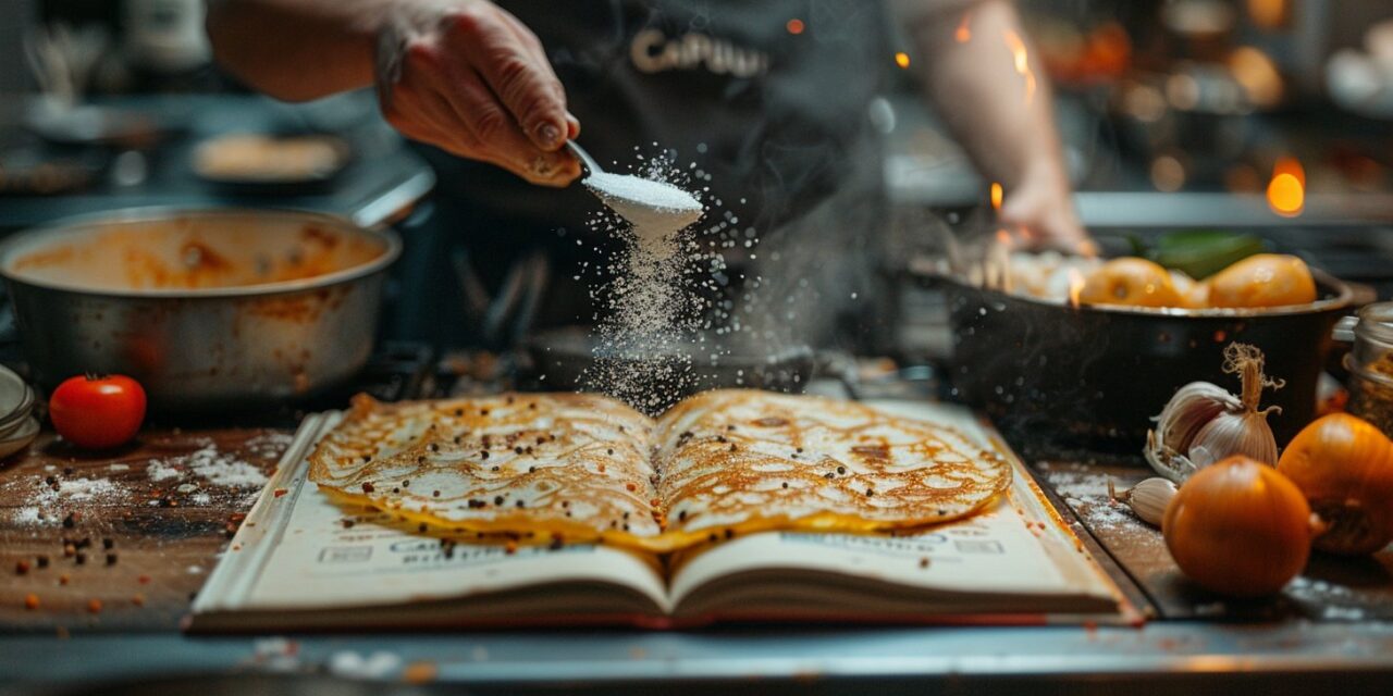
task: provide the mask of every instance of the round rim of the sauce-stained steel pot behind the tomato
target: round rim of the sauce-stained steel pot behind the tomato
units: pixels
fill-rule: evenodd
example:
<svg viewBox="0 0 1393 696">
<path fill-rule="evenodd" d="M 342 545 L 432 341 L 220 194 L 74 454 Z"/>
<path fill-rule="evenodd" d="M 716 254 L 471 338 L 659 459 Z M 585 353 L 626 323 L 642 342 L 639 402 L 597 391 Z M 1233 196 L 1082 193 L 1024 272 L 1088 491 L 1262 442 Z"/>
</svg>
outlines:
<svg viewBox="0 0 1393 696">
<path fill-rule="evenodd" d="M 256 285 L 234 285 L 221 288 L 155 288 L 155 290 L 113 290 L 113 288 L 85 288 L 35 280 L 11 271 L 11 259 L 28 246 L 42 239 L 52 241 L 59 235 L 84 234 L 89 227 L 104 224 L 127 223 L 157 223 L 180 219 L 276 219 L 283 221 L 306 221 L 334 227 L 350 234 L 359 234 L 376 239 L 383 245 L 383 252 L 368 263 L 351 266 L 348 269 L 312 276 L 309 278 L 287 280 L 279 283 L 263 283 Z M 102 213 L 88 213 L 81 216 L 63 217 L 31 227 L 11 235 L 0 242 L 0 277 L 17 285 L 70 292 L 88 296 L 109 296 L 127 299 L 216 299 L 216 298 L 249 298 L 266 295 L 286 295 L 309 290 L 320 290 L 332 285 L 351 283 L 378 274 L 391 266 L 401 256 L 401 238 L 391 228 L 369 230 L 355 224 L 352 220 L 322 212 L 274 209 L 274 207 L 235 207 L 235 206 L 142 206 L 107 210 Z"/>
</svg>

